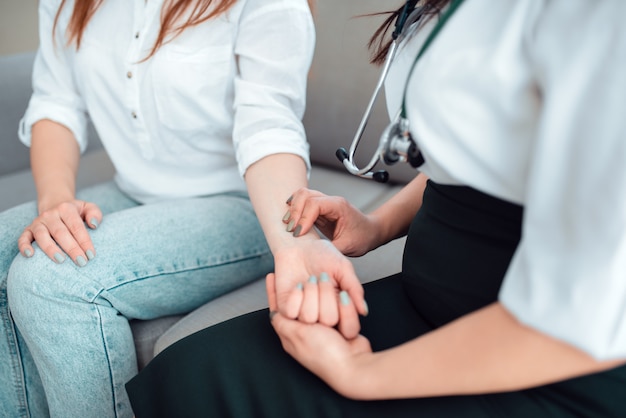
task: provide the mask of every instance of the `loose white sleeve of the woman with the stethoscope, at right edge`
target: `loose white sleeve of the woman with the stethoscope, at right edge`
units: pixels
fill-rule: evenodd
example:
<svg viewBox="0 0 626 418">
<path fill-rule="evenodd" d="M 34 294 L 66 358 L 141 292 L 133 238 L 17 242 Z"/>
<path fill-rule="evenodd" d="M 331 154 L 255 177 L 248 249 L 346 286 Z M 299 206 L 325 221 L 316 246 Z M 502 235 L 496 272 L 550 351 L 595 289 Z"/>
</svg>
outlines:
<svg viewBox="0 0 626 418">
<path fill-rule="evenodd" d="M 626 3 L 581 2 L 546 6 L 529 48 L 543 113 L 500 300 L 597 359 L 624 358 Z"/>
</svg>

